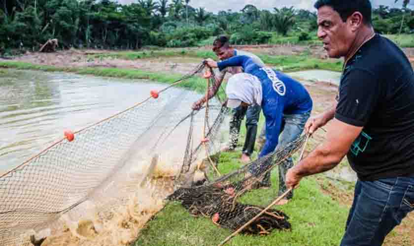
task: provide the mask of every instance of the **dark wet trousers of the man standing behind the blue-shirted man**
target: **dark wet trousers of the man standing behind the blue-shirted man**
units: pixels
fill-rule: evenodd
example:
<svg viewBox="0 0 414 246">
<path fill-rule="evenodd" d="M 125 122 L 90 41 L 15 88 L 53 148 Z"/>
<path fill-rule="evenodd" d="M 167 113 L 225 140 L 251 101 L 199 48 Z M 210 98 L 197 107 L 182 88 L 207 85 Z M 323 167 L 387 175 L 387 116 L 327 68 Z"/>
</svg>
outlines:
<svg viewBox="0 0 414 246">
<path fill-rule="evenodd" d="M 229 149 L 234 150 L 239 141 L 240 127 L 242 120 L 246 116 L 246 139 L 244 140 L 243 153 L 251 155 L 254 150 L 254 143 L 256 141 L 257 123 L 259 122 L 261 107 L 259 105 L 252 105 L 249 107 L 239 106 L 232 111 L 232 118 L 230 120 L 230 136 Z"/>
</svg>

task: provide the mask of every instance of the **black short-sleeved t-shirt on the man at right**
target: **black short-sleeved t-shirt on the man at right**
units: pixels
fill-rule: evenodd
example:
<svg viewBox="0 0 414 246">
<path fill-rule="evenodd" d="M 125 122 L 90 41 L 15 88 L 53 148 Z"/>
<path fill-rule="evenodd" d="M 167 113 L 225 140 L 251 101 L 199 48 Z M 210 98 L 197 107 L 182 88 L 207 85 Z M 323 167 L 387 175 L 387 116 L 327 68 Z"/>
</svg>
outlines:
<svg viewBox="0 0 414 246">
<path fill-rule="evenodd" d="M 377 34 L 349 60 L 335 118 L 363 127 L 347 154 L 360 180 L 414 174 L 414 72 L 393 42 Z"/>
</svg>

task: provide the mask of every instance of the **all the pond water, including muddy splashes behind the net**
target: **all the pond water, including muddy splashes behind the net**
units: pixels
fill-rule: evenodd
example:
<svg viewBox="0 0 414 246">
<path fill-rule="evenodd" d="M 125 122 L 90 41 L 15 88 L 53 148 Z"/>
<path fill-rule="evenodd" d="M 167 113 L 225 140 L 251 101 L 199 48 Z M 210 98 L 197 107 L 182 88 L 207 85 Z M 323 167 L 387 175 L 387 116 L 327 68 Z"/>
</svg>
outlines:
<svg viewBox="0 0 414 246">
<path fill-rule="evenodd" d="M 77 131 L 90 126 L 148 98 L 151 90 L 159 91 L 165 87 L 167 87 L 165 84 L 148 81 L 97 78 L 67 73 L 0 70 L 0 172 L 4 173 L 16 167 L 61 139 L 65 129 Z M 46 225 L 41 221 L 34 221 L 21 226 L 25 230 L 29 229 L 24 232 L 23 229 L 21 230 L 25 240 L 27 241 L 30 235 L 39 233 L 32 229 L 38 228 L 48 231 L 49 236 L 53 235 L 51 239 L 49 238 L 52 240 L 51 243 L 46 245 L 62 245 L 59 243 L 62 240 L 77 242 L 79 238 L 87 237 L 87 235 L 79 236 L 78 234 L 82 233 L 77 232 L 81 230 L 81 221 L 85 218 L 89 221 L 87 224 L 93 223 L 96 228 L 101 228 L 100 236 L 94 237 L 95 243 L 91 245 L 105 245 L 96 242 L 105 242 L 107 238 L 115 238 L 117 242 L 128 244 L 130 240 L 136 238 L 143 224 L 162 208 L 163 198 L 172 192 L 172 179 L 169 177 L 175 176 L 182 164 L 184 151 L 187 148 L 189 121 L 184 121 L 176 128 L 174 126 L 191 112 L 191 103 L 200 97 L 201 95 L 196 92 L 171 88 L 160 94 L 158 100 L 149 100 L 128 111 L 135 112 L 129 114 L 129 118 L 124 117 L 126 114 L 122 114 L 116 118 L 118 121 L 110 121 L 113 125 L 107 124 L 102 131 L 88 135 L 90 140 L 95 137 L 96 141 L 106 138 L 114 140 L 111 145 L 107 144 L 114 149 L 110 149 L 107 156 L 106 153 L 99 152 L 106 158 L 102 155 L 100 155 L 102 158 L 95 158 L 101 165 L 99 168 L 95 166 L 93 173 L 76 172 L 76 175 L 73 175 L 73 170 L 72 173 L 68 171 L 68 175 L 72 175 L 72 182 L 65 185 L 63 189 L 59 188 L 57 194 L 66 194 L 62 201 L 65 208 L 70 207 L 80 198 L 82 202 L 57 221 L 50 220 Z M 217 108 L 210 108 L 212 120 L 216 116 L 214 112 L 218 113 L 218 111 Z M 194 141 L 202 138 L 203 119 L 202 111 L 194 117 Z M 122 128 L 123 131 L 111 131 L 112 128 L 117 127 Z M 95 127 L 88 129 L 93 128 Z M 134 131 L 131 128 L 138 130 Z M 117 133 L 112 134 L 114 132 Z M 79 140 L 74 141 L 73 146 L 82 141 L 84 136 L 82 134 L 87 133 L 76 135 Z M 128 140 L 130 135 L 139 137 L 130 141 Z M 122 149 L 122 141 L 131 143 L 127 151 Z M 114 146 L 113 143 L 118 143 L 120 147 L 116 144 Z M 86 157 L 98 153 L 94 152 L 95 149 L 83 152 L 82 150 L 76 149 L 76 155 L 72 159 L 87 159 Z M 153 156 L 159 156 L 157 165 L 151 173 L 152 179 L 145 183 L 143 182 L 145 178 L 151 178 L 145 174 Z M 117 158 L 117 163 L 110 162 L 112 158 Z M 72 164 L 75 161 L 68 163 Z M 105 165 L 111 167 L 110 175 L 105 171 Z M 41 172 L 36 174 L 36 177 L 42 177 Z M 53 175 L 48 174 L 48 176 Z M 97 186 L 94 180 L 99 177 L 108 178 L 100 180 Z M 22 185 L 30 184 L 28 180 L 22 181 Z M 76 184 L 79 183 L 81 185 L 77 186 Z M 41 184 L 41 181 L 36 184 Z M 56 185 L 55 189 L 58 189 L 57 186 L 59 185 Z M 26 191 L 32 192 L 26 189 L 23 193 L 26 194 Z M 21 199 L 17 199 L 16 204 L 24 200 L 24 194 L 19 196 Z M 7 194 L 2 195 L 7 196 Z M 59 199 L 59 197 L 52 198 Z M 33 199 L 31 204 L 36 205 L 38 201 L 46 201 L 49 198 L 46 193 L 33 191 L 28 199 Z M 7 198 L 2 201 L 7 203 Z M 112 219 L 114 214 L 117 215 L 115 220 Z M 23 217 L 25 214 L 20 213 L 19 216 Z M 32 221 L 32 218 L 33 216 L 29 219 Z M 135 230 L 124 228 L 124 222 L 134 224 Z M 64 226 L 71 228 L 69 235 L 60 234 L 65 231 Z M 120 230 L 124 230 L 126 234 L 122 237 L 112 235 Z M 1 236 L 3 235 L 0 234 L 0 238 Z M 53 241 L 54 239 L 57 241 Z M 7 238 L 7 240 L 15 239 Z"/>
</svg>

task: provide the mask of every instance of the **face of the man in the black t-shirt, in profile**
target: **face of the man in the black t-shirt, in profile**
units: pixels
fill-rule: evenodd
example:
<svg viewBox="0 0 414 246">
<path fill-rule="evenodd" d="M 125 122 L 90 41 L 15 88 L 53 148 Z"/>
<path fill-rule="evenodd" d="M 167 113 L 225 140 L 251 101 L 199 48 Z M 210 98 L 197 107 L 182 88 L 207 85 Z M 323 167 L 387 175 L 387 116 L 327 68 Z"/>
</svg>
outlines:
<svg viewBox="0 0 414 246">
<path fill-rule="evenodd" d="M 340 58 L 348 54 L 355 39 L 350 18 L 343 22 L 341 16 L 330 6 L 318 9 L 318 37 L 330 58 Z"/>
</svg>

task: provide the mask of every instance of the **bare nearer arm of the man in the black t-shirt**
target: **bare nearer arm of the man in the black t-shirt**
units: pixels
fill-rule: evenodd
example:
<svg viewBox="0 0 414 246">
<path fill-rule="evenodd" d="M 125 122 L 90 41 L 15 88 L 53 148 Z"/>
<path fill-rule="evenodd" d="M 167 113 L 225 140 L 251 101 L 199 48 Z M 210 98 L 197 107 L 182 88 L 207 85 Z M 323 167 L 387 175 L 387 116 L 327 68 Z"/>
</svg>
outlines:
<svg viewBox="0 0 414 246">
<path fill-rule="evenodd" d="M 348 153 L 362 127 L 337 119 L 329 126 L 326 140 L 286 174 L 287 187 L 295 187 L 303 177 L 334 168 Z"/>
</svg>

